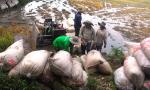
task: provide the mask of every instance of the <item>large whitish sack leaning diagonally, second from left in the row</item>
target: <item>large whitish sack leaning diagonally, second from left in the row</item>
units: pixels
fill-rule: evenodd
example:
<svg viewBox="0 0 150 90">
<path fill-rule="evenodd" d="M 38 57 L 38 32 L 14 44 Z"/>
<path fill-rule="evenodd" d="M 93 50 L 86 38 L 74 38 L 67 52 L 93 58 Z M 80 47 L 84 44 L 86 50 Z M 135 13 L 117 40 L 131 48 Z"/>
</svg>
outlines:
<svg viewBox="0 0 150 90">
<path fill-rule="evenodd" d="M 9 76 L 23 75 L 27 77 L 39 76 L 47 63 L 50 53 L 46 50 L 32 51 L 27 54 L 23 60 L 16 65 Z"/>
</svg>

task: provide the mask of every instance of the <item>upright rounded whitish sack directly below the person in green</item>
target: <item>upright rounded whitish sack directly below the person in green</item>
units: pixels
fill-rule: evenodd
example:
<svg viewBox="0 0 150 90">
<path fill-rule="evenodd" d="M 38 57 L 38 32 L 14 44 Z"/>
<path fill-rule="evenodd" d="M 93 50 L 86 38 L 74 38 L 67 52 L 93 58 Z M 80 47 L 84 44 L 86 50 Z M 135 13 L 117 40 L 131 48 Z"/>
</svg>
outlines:
<svg viewBox="0 0 150 90">
<path fill-rule="evenodd" d="M 55 74 L 71 77 L 73 62 L 69 52 L 61 50 L 53 56 L 51 61 L 52 71 Z"/>
</svg>

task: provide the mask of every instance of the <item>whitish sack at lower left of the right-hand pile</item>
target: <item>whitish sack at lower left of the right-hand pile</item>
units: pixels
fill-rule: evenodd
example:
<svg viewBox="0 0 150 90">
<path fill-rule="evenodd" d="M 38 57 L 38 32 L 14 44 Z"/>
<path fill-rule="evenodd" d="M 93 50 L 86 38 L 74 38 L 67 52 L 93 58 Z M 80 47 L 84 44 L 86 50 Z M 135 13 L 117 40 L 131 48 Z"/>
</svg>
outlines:
<svg viewBox="0 0 150 90">
<path fill-rule="evenodd" d="M 123 66 L 118 68 L 114 72 L 114 81 L 115 81 L 116 87 L 119 90 L 134 90 L 132 83 L 128 80 L 128 78 L 124 74 Z"/>
</svg>

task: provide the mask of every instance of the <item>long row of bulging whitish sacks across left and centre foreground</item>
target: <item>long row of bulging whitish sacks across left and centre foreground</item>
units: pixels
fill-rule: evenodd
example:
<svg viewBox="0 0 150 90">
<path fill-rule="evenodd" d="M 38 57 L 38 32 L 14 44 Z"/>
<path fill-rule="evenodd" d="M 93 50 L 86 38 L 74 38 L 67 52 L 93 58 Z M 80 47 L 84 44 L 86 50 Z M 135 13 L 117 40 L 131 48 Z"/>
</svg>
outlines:
<svg viewBox="0 0 150 90">
<path fill-rule="evenodd" d="M 110 75 L 112 68 L 101 53 L 91 50 L 87 55 L 73 58 L 67 51 L 56 53 L 47 50 L 24 54 L 24 40 L 20 39 L 0 53 L 0 67 L 6 69 L 9 77 L 35 78 L 47 84 L 55 77 L 66 85 L 82 87 L 87 84 L 92 70 Z"/>
</svg>

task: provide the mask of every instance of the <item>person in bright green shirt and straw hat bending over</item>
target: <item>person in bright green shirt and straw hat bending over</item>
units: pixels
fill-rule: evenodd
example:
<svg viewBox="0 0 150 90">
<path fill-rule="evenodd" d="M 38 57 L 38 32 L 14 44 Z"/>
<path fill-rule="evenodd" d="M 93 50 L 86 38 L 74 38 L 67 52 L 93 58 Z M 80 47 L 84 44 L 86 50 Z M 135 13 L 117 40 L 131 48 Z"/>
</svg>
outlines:
<svg viewBox="0 0 150 90">
<path fill-rule="evenodd" d="M 58 36 L 54 41 L 53 41 L 53 46 L 56 49 L 56 51 L 58 50 L 65 50 L 68 51 L 70 53 L 72 53 L 73 50 L 73 46 L 74 45 L 79 45 L 80 44 L 80 40 L 78 37 L 73 36 Z"/>
</svg>

